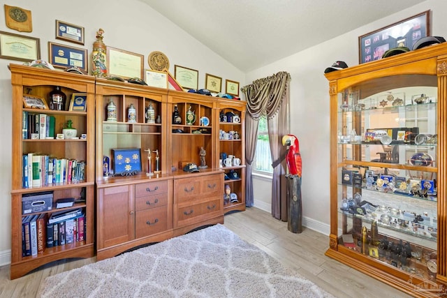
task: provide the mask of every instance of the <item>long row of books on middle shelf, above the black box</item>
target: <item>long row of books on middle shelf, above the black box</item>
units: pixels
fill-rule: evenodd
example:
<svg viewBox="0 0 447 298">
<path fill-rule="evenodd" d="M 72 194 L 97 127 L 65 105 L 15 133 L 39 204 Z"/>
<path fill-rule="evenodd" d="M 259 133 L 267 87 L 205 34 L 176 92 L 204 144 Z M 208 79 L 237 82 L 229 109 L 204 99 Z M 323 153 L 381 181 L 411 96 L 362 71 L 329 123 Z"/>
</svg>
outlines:
<svg viewBox="0 0 447 298">
<path fill-rule="evenodd" d="M 24 154 L 22 157 L 23 188 L 85 180 L 85 161 L 51 158 L 36 153 Z"/>
</svg>

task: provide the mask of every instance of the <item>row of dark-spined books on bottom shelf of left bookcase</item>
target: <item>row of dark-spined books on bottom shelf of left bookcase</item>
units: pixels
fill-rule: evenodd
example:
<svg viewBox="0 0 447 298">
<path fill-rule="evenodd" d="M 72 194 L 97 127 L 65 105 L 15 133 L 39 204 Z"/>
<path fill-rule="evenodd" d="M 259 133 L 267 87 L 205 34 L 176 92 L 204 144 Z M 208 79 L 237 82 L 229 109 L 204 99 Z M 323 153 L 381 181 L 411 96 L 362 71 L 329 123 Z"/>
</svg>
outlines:
<svg viewBox="0 0 447 298">
<path fill-rule="evenodd" d="M 22 256 L 38 255 L 45 248 L 85 240 L 85 216 L 82 209 L 22 218 Z"/>
</svg>

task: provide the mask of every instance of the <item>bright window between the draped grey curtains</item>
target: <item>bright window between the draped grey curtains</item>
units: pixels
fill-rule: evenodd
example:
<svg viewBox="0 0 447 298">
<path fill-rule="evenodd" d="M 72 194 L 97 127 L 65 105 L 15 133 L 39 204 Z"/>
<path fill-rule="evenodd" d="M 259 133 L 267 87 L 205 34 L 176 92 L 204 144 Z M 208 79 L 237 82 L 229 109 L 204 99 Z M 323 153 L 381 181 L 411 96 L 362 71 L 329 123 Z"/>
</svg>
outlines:
<svg viewBox="0 0 447 298">
<path fill-rule="evenodd" d="M 258 142 L 254 154 L 254 170 L 261 174 L 272 174 L 272 155 L 268 142 L 267 117 L 263 116 L 258 122 Z"/>
</svg>

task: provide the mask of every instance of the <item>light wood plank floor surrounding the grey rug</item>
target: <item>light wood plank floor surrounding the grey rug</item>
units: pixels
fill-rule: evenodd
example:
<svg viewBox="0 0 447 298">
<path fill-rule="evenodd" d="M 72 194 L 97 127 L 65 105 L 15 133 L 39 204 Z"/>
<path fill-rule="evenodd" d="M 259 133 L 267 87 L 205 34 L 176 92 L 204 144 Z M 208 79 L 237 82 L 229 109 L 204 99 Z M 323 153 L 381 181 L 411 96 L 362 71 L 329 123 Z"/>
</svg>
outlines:
<svg viewBox="0 0 447 298">
<path fill-rule="evenodd" d="M 247 211 L 226 215 L 224 225 L 335 297 L 410 297 L 326 257 L 327 236 L 307 228 L 300 234 L 289 232 L 286 222 L 277 221 L 268 212 L 247 208 Z M 95 261 L 96 258 L 54 262 L 14 281 L 9 279 L 9 266 L 0 267 L 0 297 L 36 297 L 39 285 L 47 276 Z"/>
</svg>

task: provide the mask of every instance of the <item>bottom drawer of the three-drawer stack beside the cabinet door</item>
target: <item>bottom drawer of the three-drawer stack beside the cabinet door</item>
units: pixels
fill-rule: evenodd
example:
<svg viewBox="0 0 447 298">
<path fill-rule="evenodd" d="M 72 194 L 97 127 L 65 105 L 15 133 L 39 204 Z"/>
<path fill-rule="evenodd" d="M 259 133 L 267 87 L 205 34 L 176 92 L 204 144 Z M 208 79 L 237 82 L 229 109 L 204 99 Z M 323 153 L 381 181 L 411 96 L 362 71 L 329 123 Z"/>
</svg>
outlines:
<svg viewBox="0 0 447 298">
<path fill-rule="evenodd" d="M 135 212 L 135 238 L 147 237 L 168 230 L 168 207 Z"/>
</svg>

